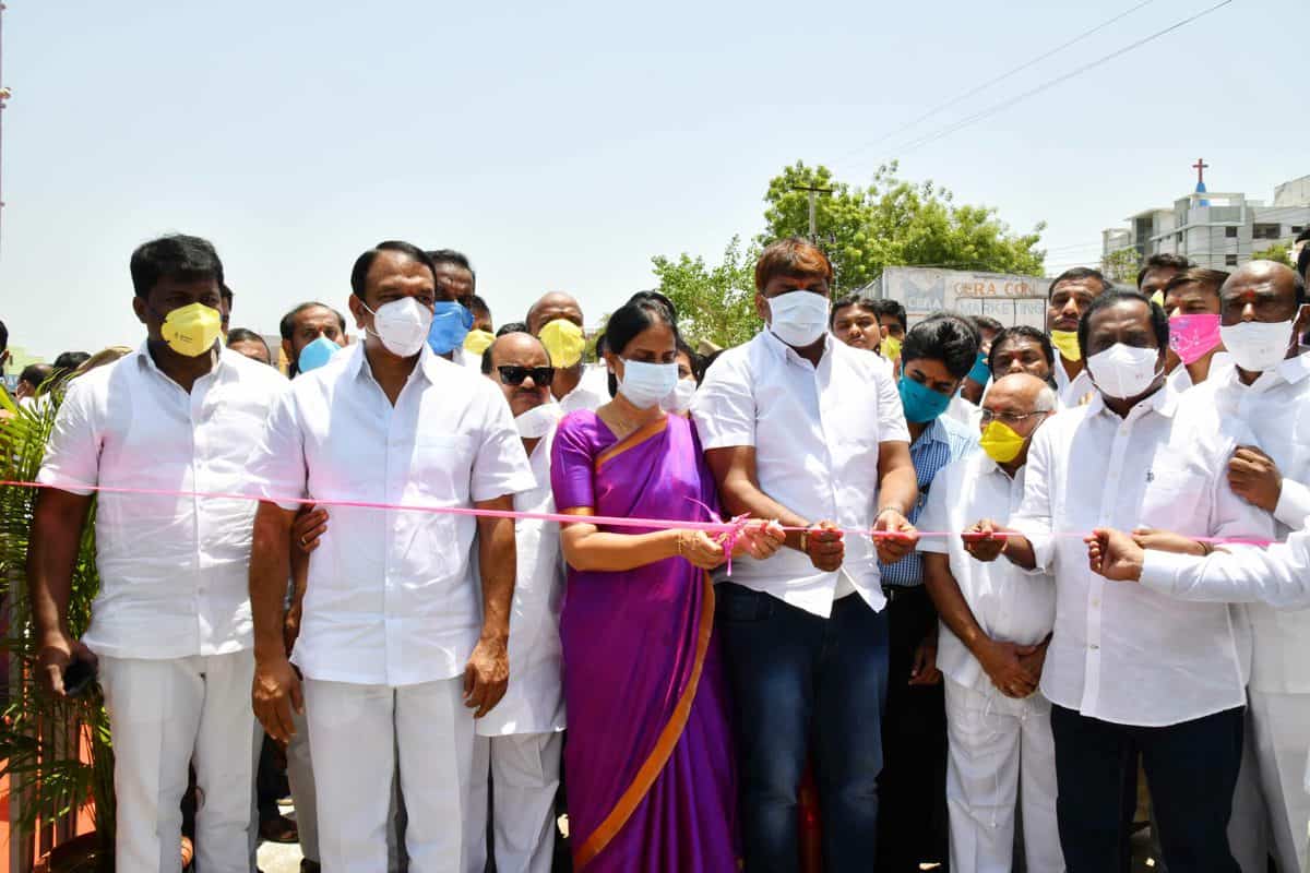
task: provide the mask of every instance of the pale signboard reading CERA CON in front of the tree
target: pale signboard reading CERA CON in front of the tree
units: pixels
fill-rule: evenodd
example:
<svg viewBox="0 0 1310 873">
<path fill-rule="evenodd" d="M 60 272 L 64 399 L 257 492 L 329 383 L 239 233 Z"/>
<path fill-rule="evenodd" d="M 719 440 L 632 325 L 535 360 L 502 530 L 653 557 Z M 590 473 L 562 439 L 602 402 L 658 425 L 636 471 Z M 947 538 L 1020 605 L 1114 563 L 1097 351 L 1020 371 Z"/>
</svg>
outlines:
<svg viewBox="0 0 1310 873">
<path fill-rule="evenodd" d="M 965 315 L 989 315 L 1006 327 L 1030 325 L 1045 330 L 1047 326 L 1051 280 L 1040 276 L 888 267 L 879 283 L 879 296 L 899 301 L 912 325 L 946 309 Z"/>
</svg>

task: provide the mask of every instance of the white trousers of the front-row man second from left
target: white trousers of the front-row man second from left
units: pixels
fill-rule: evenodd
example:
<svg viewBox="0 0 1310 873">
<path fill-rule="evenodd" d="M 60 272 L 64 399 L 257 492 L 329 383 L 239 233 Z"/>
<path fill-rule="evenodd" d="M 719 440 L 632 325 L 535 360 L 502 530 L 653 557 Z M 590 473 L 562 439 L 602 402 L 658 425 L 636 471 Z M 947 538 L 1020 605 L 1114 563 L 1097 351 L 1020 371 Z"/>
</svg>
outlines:
<svg viewBox="0 0 1310 873">
<path fill-rule="evenodd" d="M 462 677 L 401 687 L 305 681 L 325 873 L 388 868 L 397 760 L 409 869 L 466 869 L 473 715 L 462 685 Z"/>
</svg>

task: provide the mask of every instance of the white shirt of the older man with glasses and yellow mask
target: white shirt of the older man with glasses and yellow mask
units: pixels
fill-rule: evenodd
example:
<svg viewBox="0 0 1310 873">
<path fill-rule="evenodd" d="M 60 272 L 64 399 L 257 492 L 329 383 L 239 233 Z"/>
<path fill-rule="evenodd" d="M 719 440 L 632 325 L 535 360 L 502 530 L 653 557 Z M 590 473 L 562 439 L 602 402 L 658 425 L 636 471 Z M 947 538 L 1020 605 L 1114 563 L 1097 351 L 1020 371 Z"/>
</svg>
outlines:
<svg viewBox="0 0 1310 873">
<path fill-rule="evenodd" d="M 918 517 L 924 530 L 965 530 L 981 518 L 1009 522 L 1023 500 L 1027 467 L 1013 479 L 982 452 L 943 467 L 933 479 L 927 504 Z M 1023 571 L 1002 559 L 984 563 L 964 551 L 964 541 L 925 537 L 918 551 L 946 555 L 979 627 L 993 640 L 1034 645 L 1055 627 L 1056 588 L 1047 573 Z M 990 691 L 992 681 L 973 653 L 942 623 L 937 669 L 963 686 Z"/>
</svg>

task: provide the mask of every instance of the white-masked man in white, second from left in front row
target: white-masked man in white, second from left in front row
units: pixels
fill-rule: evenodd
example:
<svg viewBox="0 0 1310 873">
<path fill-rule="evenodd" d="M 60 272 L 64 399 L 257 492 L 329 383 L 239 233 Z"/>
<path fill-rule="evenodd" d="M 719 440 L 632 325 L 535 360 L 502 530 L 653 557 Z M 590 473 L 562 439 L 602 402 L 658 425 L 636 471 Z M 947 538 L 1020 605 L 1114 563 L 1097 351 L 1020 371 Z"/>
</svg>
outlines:
<svg viewBox="0 0 1310 873">
<path fill-rule="evenodd" d="M 351 292 L 364 340 L 292 382 L 250 461 L 265 500 L 250 559 L 254 708 L 283 741 L 301 708 L 282 640 L 296 499 L 507 510 L 533 486 L 500 393 L 427 346 L 436 301 L 428 257 L 380 243 L 355 262 Z M 324 868 L 385 869 L 398 754 L 410 869 L 468 869 L 474 719 L 508 679 L 514 524 L 348 505 L 333 517 L 309 560 L 292 654 L 304 675 Z"/>
</svg>

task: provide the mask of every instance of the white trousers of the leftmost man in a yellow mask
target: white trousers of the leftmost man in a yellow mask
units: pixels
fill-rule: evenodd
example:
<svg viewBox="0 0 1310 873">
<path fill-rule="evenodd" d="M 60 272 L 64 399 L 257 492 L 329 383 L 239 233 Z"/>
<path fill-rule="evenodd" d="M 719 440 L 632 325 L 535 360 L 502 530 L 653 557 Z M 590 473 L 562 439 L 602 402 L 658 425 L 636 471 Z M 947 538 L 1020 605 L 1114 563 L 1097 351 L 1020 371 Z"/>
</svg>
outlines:
<svg viewBox="0 0 1310 873">
<path fill-rule="evenodd" d="M 254 791 L 254 656 L 100 658 L 114 743 L 117 869 L 178 873 L 182 794 L 195 763 L 195 864 L 249 873 Z"/>
</svg>

